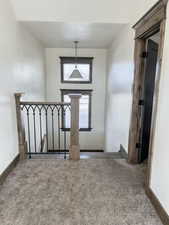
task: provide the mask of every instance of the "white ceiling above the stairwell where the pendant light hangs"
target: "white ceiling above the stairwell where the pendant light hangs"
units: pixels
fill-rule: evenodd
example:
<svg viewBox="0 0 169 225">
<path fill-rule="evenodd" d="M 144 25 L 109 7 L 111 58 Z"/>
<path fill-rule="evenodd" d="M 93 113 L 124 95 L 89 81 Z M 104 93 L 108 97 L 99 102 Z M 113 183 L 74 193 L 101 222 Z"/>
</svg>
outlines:
<svg viewBox="0 0 169 225">
<path fill-rule="evenodd" d="M 123 24 L 21 22 L 46 48 L 71 48 L 78 40 L 81 48 L 107 48 Z"/>
</svg>

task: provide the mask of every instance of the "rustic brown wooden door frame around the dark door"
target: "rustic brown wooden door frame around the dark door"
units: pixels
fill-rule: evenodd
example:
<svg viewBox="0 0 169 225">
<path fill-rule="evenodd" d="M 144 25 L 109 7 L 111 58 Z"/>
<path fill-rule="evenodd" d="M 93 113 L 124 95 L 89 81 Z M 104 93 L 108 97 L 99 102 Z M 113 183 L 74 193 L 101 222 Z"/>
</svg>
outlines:
<svg viewBox="0 0 169 225">
<path fill-rule="evenodd" d="M 150 147 L 149 147 L 149 157 L 148 157 L 148 170 L 146 186 L 150 185 L 150 175 L 151 175 L 151 163 L 153 157 L 153 139 L 154 131 L 156 126 L 156 114 L 159 96 L 159 84 L 161 75 L 161 63 L 163 56 L 164 47 L 164 35 L 165 35 L 165 25 L 166 25 L 166 9 L 168 0 L 158 1 L 134 26 L 135 30 L 135 51 L 134 51 L 134 83 L 133 83 L 133 102 L 132 102 L 132 113 L 130 120 L 130 130 L 129 130 L 129 145 L 128 145 L 128 162 L 132 164 L 139 163 L 139 133 L 141 128 L 141 115 L 139 110 L 139 100 L 141 98 L 143 79 L 144 79 L 144 68 L 145 60 L 142 57 L 142 53 L 146 50 L 146 40 L 148 37 L 156 33 L 158 30 L 160 32 L 160 43 L 157 59 L 157 72 L 156 72 L 156 83 L 154 95 L 156 96 L 153 102 L 153 115 L 150 133 Z"/>
</svg>

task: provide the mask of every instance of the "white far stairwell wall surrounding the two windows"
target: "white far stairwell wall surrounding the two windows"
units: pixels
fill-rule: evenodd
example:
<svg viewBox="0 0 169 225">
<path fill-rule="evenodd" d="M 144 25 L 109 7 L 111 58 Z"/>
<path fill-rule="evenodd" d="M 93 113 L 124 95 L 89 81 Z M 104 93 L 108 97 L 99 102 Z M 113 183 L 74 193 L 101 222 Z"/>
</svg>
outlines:
<svg viewBox="0 0 169 225">
<path fill-rule="evenodd" d="M 59 56 L 74 56 L 74 49 L 46 49 L 47 100 L 60 101 L 60 89 L 93 89 L 91 132 L 80 133 L 81 149 L 104 149 L 106 50 L 79 49 L 79 56 L 94 57 L 92 84 L 62 84 Z"/>
</svg>

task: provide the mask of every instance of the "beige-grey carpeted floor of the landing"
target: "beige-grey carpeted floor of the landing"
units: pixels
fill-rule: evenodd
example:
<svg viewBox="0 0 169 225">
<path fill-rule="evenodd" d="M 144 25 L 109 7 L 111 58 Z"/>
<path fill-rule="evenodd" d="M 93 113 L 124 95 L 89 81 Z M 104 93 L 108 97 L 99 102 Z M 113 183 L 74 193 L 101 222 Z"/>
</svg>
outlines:
<svg viewBox="0 0 169 225">
<path fill-rule="evenodd" d="M 123 160 L 27 160 L 0 187 L 0 225 L 161 224 Z"/>
</svg>

